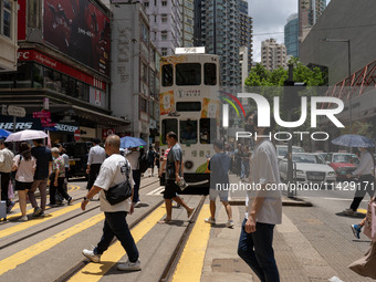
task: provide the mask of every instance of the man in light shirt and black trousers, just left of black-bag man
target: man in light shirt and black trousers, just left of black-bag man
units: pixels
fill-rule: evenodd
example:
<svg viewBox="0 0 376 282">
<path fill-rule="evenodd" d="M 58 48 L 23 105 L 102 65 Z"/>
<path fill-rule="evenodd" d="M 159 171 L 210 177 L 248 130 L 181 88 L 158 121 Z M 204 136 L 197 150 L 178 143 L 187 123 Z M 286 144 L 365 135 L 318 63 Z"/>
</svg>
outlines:
<svg viewBox="0 0 376 282">
<path fill-rule="evenodd" d="M 88 152 L 86 174 L 88 175 L 86 189 L 92 189 L 96 177 L 100 174 L 101 165 L 106 159 L 106 152 L 100 146 L 101 140 L 95 138 L 93 147 Z"/>
</svg>

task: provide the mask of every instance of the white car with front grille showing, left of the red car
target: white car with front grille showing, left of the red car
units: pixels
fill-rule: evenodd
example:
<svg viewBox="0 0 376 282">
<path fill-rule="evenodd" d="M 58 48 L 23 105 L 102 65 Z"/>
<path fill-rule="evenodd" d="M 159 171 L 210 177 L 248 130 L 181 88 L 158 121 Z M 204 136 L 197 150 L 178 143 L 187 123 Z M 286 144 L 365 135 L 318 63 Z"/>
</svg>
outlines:
<svg viewBox="0 0 376 282">
<path fill-rule="evenodd" d="M 293 153 L 293 175 L 299 182 L 334 182 L 335 171 L 316 154 Z M 282 180 L 288 180 L 288 158 L 279 161 Z"/>
</svg>

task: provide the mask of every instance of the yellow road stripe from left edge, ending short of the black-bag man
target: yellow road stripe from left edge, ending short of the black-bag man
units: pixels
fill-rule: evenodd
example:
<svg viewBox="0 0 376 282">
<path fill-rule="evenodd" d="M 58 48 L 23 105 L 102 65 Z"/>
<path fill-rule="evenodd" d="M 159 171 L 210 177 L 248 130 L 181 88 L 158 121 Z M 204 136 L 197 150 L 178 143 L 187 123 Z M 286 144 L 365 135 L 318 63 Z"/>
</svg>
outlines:
<svg viewBox="0 0 376 282">
<path fill-rule="evenodd" d="M 48 220 L 63 216 L 63 215 L 65 215 L 70 211 L 76 210 L 79 208 L 81 208 L 81 202 L 75 203 L 73 206 L 67 206 L 64 209 L 60 209 L 60 210 L 51 212 L 51 213 L 46 213 L 44 217 L 33 218 L 33 220 L 29 220 L 27 222 L 22 222 L 21 224 L 17 224 L 17 226 L 3 229 L 3 230 L 1 230 L 0 238 L 13 234 L 15 232 L 20 232 L 20 231 L 25 230 L 30 227 L 34 227 L 36 224 L 43 223 Z"/>
</svg>

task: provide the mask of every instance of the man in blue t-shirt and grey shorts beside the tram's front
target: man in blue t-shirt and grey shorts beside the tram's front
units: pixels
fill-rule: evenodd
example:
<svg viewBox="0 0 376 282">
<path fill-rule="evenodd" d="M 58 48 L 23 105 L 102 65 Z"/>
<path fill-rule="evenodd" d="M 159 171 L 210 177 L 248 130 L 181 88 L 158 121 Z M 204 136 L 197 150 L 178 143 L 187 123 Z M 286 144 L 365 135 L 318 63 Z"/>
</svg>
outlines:
<svg viewBox="0 0 376 282">
<path fill-rule="evenodd" d="M 205 222 L 216 223 L 216 199 L 219 196 L 220 201 L 223 203 L 228 221 L 228 228 L 233 227 L 232 210 L 229 203 L 229 170 L 231 166 L 231 158 L 223 153 L 223 144 L 216 140 L 213 144 L 216 155 L 209 161 L 208 168 L 211 171 L 210 176 L 210 218 L 206 218 Z"/>
</svg>

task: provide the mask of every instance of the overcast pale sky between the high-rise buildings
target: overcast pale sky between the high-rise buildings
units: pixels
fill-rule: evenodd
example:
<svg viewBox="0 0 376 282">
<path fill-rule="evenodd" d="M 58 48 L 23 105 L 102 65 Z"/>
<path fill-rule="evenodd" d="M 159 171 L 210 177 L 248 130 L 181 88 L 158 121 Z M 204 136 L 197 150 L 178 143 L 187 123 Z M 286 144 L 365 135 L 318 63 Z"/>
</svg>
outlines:
<svg viewBox="0 0 376 282">
<path fill-rule="evenodd" d="M 248 3 L 253 18 L 253 61 L 260 62 L 262 41 L 274 38 L 278 43 L 284 43 L 284 25 L 292 13 L 297 13 L 297 0 L 248 0 Z M 264 33 L 273 34 L 261 35 Z"/>
</svg>

